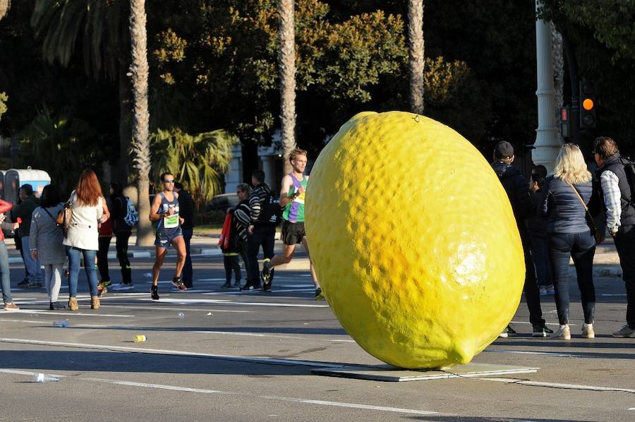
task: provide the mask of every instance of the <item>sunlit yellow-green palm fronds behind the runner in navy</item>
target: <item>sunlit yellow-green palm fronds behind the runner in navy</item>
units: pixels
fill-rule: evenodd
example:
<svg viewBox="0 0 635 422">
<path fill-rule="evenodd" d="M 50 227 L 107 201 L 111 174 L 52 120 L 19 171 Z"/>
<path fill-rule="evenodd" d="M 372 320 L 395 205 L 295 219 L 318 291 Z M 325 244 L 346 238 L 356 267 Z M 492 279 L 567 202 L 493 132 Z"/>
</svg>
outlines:
<svg viewBox="0 0 635 422">
<path fill-rule="evenodd" d="M 196 205 L 222 192 L 220 179 L 229 169 L 231 147 L 238 140 L 226 131 L 218 130 L 191 135 L 173 128 L 159 129 L 152 135 L 152 180 L 159 180 L 164 171 L 172 171 L 183 183 Z"/>
</svg>

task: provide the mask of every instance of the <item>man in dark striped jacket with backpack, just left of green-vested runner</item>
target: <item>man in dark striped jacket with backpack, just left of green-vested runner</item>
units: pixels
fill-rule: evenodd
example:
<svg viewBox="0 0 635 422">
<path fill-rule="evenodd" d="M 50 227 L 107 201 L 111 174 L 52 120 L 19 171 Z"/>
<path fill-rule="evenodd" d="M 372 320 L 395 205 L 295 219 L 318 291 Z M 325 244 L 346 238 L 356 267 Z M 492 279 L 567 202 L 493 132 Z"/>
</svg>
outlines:
<svg viewBox="0 0 635 422">
<path fill-rule="evenodd" d="M 258 252 L 262 246 L 265 259 L 271 259 L 274 255 L 274 243 L 276 226 L 280 205 L 276 194 L 265 183 L 265 172 L 256 169 L 251 173 L 253 191 L 249 196 L 250 224 L 247 227 L 247 282 L 241 290 L 260 289 L 260 274 L 258 265 Z M 277 210 L 276 210 L 277 208 Z M 270 272 L 269 282 L 273 279 L 273 270 Z"/>
</svg>

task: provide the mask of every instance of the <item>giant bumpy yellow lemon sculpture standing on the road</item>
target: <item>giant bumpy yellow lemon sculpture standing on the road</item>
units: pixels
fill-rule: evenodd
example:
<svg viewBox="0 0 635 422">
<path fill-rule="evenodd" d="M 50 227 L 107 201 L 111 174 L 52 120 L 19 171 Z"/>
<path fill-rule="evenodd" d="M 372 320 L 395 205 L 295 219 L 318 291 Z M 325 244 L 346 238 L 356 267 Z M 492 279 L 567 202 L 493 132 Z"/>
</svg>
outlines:
<svg viewBox="0 0 635 422">
<path fill-rule="evenodd" d="M 433 119 L 364 112 L 341 126 L 310 174 L 306 232 L 337 319 L 390 365 L 468 363 L 519 305 L 509 199 L 483 155 Z"/>
</svg>

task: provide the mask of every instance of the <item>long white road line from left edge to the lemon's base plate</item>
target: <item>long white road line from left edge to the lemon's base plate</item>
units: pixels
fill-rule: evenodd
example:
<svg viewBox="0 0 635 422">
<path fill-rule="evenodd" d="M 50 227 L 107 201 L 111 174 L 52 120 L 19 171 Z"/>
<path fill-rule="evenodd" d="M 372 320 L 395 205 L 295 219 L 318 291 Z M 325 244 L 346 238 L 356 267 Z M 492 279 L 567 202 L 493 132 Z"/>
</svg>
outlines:
<svg viewBox="0 0 635 422">
<path fill-rule="evenodd" d="M 65 347 L 70 346 L 70 347 L 75 347 L 77 349 L 103 349 L 103 350 L 110 350 L 110 351 L 132 351 L 136 353 L 167 354 L 167 355 L 188 356 L 188 357 L 195 357 L 195 358 L 214 358 L 214 359 L 225 359 L 228 361 L 264 363 L 265 365 L 277 364 L 277 365 L 285 365 L 285 366 L 311 366 L 314 368 L 341 368 L 342 366 L 344 366 L 344 363 L 336 364 L 336 363 L 325 363 L 325 362 L 317 362 L 317 361 L 296 361 L 294 359 L 256 358 L 251 356 L 195 353 L 193 351 L 179 351 L 179 350 L 168 350 L 168 349 L 146 349 L 143 347 L 128 347 L 128 346 L 109 346 L 106 344 L 45 342 L 43 340 L 8 339 L 8 338 L 0 338 L 0 342 L 20 343 L 20 344 L 40 344 L 42 346 L 65 346 Z"/>
</svg>

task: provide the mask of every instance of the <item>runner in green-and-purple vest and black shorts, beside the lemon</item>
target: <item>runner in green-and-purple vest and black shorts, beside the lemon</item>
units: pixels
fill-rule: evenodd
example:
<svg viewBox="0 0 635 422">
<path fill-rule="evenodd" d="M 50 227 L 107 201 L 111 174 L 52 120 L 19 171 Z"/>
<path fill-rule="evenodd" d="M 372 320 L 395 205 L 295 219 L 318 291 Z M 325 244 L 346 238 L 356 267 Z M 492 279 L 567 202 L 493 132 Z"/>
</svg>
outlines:
<svg viewBox="0 0 635 422">
<path fill-rule="evenodd" d="M 262 289 L 271 288 L 270 274 L 277 265 L 288 264 L 294 257 L 296 245 L 302 246 L 308 254 L 306 243 L 306 231 L 304 230 L 304 194 L 309 176 L 304 175 L 306 168 L 306 150 L 296 148 L 289 154 L 289 162 L 293 171 L 282 178 L 282 188 L 280 189 L 280 206 L 284 207 L 282 212 L 282 255 L 275 255 L 271 260 L 265 259 L 262 262 Z M 309 255 L 310 273 L 315 284 L 315 300 L 322 299 L 322 289 L 317 282 L 315 268 Z"/>
</svg>

